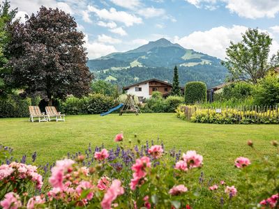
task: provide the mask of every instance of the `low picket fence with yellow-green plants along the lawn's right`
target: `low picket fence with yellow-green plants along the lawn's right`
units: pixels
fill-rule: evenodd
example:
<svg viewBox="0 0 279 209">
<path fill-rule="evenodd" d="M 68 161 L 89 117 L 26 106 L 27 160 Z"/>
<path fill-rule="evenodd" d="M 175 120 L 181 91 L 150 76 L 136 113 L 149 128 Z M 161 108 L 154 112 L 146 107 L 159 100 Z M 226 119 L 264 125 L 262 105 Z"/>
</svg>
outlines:
<svg viewBox="0 0 279 209">
<path fill-rule="evenodd" d="M 197 123 L 279 123 L 278 106 L 179 107 L 183 118 Z M 177 111 L 176 111 L 177 112 Z"/>
</svg>

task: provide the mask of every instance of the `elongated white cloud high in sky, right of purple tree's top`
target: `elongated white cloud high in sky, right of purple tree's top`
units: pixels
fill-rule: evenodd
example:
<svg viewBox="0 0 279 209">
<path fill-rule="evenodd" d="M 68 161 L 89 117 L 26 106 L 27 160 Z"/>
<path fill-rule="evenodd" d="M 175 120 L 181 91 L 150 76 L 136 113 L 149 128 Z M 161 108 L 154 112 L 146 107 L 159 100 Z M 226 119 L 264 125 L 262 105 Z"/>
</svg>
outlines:
<svg viewBox="0 0 279 209">
<path fill-rule="evenodd" d="M 95 13 L 100 19 L 112 20 L 116 22 L 122 22 L 126 26 L 133 26 L 134 24 L 141 24 L 142 18 L 124 11 L 117 11 L 115 8 L 107 9 L 98 9 L 94 6 L 88 6 L 90 12 Z"/>
</svg>

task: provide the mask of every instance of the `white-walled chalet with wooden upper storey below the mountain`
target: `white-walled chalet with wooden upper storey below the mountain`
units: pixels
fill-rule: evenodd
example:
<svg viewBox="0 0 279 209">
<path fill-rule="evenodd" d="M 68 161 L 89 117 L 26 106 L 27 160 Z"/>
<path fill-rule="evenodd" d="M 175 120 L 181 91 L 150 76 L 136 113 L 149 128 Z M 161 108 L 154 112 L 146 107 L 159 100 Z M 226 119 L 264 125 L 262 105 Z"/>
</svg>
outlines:
<svg viewBox="0 0 279 209">
<path fill-rule="evenodd" d="M 183 92 L 183 89 L 184 88 L 181 88 L 181 92 Z M 123 90 L 128 94 L 136 95 L 140 102 L 143 102 L 145 99 L 151 98 L 153 91 L 160 91 L 163 97 L 166 98 L 172 91 L 172 84 L 158 79 L 149 79 L 144 82 L 125 86 Z"/>
</svg>

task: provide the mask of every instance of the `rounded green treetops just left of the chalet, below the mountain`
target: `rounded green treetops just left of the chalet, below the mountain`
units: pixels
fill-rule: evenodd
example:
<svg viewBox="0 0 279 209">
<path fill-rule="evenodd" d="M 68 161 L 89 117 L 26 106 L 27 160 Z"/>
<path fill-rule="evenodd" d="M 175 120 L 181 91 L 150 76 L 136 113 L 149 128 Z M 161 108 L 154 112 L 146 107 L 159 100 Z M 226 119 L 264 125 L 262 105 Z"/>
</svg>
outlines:
<svg viewBox="0 0 279 209">
<path fill-rule="evenodd" d="M 92 82 L 91 89 L 93 93 L 100 93 L 103 95 L 116 96 L 118 94 L 118 87 L 110 82 L 105 82 L 103 80 L 98 80 Z"/>
</svg>

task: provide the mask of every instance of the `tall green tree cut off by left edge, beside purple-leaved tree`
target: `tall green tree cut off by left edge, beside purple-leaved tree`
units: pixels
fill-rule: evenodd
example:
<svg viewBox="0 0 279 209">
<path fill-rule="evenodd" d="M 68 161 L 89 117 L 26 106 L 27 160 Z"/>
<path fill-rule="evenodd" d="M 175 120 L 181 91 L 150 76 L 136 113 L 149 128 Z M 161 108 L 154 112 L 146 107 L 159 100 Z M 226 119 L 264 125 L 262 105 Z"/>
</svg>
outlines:
<svg viewBox="0 0 279 209">
<path fill-rule="evenodd" d="M 13 90 L 13 86 L 8 86 L 4 81 L 4 77 L 10 74 L 10 70 L 6 68 L 8 63 L 8 43 L 10 42 L 10 34 L 8 33 L 8 26 L 15 18 L 17 9 L 10 10 L 10 3 L 6 0 L 0 5 L 0 97 L 7 97 Z"/>
</svg>

